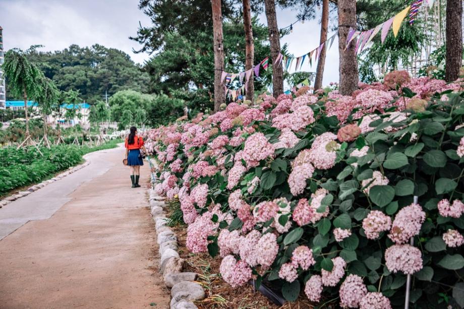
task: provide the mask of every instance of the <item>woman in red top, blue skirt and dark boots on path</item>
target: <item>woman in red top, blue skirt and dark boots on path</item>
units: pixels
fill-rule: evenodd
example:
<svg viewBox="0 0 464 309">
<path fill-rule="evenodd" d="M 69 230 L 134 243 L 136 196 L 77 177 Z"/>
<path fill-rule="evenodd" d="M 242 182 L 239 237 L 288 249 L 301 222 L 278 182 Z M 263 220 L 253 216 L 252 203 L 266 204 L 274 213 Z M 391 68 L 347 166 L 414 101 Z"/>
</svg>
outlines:
<svg viewBox="0 0 464 309">
<path fill-rule="evenodd" d="M 132 188 L 140 187 L 140 165 L 143 165 L 142 150 L 147 153 L 141 136 L 137 136 L 137 128 L 131 127 L 131 132 L 126 138 L 127 165 L 131 167 Z"/>
</svg>

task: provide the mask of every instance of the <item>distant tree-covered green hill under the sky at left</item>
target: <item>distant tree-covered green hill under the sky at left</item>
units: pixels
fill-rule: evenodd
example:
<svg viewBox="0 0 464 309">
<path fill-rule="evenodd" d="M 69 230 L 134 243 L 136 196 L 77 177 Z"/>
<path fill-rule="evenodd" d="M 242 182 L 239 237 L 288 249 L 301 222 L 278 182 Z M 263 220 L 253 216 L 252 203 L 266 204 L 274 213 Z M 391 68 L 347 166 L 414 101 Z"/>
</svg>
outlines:
<svg viewBox="0 0 464 309">
<path fill-rule="evenodd" d="M 71 45 L 54 52 L 34 52 L 45 76 L 52 79 L 60 90 L 75 89 L 88 102 L 103 100 L 120 90 L 146 92 L 150 77 L 142 72 L 125 52 L 95 44 L 91 47 Z"/>
</svg>

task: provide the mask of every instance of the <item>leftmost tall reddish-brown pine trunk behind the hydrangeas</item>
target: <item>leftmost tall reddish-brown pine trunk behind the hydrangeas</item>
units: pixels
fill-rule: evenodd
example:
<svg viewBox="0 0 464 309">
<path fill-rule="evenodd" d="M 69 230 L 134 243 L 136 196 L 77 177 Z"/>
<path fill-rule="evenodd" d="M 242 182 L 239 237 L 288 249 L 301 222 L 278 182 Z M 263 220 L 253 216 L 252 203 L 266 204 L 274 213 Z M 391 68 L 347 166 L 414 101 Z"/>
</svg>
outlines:
<svg viewBox="0 0 464 309">
<path fill-rule="evenodd" d="M 211 0 L 213 13 L 213 39 L 214 39 L 214 112 L 225 103 L 224 87 L 221 75 L 224 71 L 224 46 L 222 45 L 222 12 L 221 0 Z"/>
</svg>

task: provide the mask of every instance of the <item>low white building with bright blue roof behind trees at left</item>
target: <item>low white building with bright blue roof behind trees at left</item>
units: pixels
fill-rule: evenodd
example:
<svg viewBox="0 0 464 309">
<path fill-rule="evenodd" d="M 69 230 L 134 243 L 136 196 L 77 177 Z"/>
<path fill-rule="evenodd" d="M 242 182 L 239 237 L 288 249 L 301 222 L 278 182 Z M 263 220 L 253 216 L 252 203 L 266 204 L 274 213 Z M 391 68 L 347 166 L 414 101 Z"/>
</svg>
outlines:
<svg viewBox="0 0 464 309">
<path fill-rule="evenodd" d="M 24 101 L 6 101 L 5 104 L 7 109 L 12 109 L 12 110 L 23 110 L 24 109 Z M 38 106 L 37 103 L 34 101 L 27 101 L 27 107 L 28 109 L 30 108 L 30 111 L 37 111 Z M 65 109 L 72 109 L 72 108 L 77 109 L 76 111 L 76 116 L 74 119 L 66 119 L 65 118 Z M 88 127 L 89 125 L 89 113 L 90 113 L 90 104 L 89 103 L 79 103 L 76 105 L 73 104 L 67 104 L 63 103 L 61 105 L 61 108 L 63 111 L 61 112 L 61 115 L 57 113 L 52 113 L 51 115 L 48 116 L 48 123 L 50 125 L 57 125 L 60 123 L 60 125 L 63 125 L 65 127 L 72 127 L 74 125 L 81 125 L 83 127 Z"/>
</svg>

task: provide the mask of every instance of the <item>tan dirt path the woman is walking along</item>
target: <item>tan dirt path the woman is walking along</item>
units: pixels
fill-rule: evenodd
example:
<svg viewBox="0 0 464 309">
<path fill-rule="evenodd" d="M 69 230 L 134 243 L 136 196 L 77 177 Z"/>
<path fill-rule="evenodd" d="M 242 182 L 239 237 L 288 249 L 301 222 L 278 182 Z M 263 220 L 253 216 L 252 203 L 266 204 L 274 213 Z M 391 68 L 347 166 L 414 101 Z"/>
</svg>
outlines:
<svg viewBox="0 0 464 309">
<path fill-rule="evenodd" d="M 168 291 L 154 267 L 157 249 L 146 190 L 130 188 L 123 155 L 121 148 L 92 154 L 91 164 L 75 176 L 90 180 L 66 197 L 59 189 L 66 183 L 59 182 L 73 175 L 56 181 L 55 190 L 53 183 L 23 198 L 30 199 L 29 208 L 47 208 L 47 195 L 39 193 L 50 187 L 56 210 L 0 241 L 0 308 L 168 306 Z M 148 179 L 147 164 L 141 172 Z M 6 210 L 13 212 L 15 203 Z"/>
</svg>

